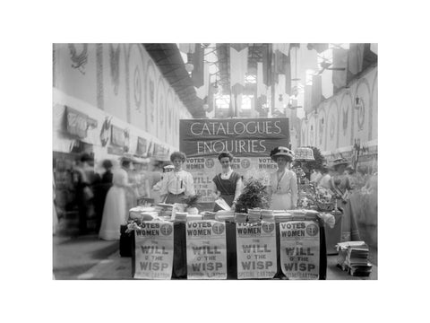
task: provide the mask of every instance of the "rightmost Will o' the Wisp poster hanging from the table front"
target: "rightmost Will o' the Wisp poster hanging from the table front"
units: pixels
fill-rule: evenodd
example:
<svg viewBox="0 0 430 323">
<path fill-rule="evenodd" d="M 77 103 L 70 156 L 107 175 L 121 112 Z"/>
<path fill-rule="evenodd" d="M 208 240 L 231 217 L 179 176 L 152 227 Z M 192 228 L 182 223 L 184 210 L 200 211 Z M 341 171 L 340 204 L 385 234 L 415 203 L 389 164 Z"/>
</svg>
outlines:
<svg viewBox="0 0 430 323">
<path fill-rule="evenodd" d="M 313 221 L 280 223 L 280 263 L 289 279 L 318 279 L 320 228 Z"/>
</svg>

